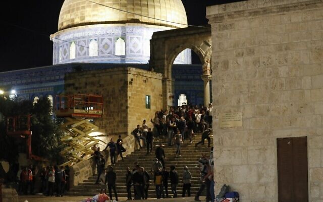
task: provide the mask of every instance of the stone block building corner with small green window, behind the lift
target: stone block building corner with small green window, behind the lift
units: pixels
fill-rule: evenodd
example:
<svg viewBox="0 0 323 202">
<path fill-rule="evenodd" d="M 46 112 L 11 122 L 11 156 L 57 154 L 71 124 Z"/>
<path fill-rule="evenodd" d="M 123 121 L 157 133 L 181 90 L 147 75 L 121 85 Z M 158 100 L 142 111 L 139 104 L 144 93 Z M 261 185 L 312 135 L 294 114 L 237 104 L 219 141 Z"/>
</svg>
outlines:
<svg viewBox="0 0 323 202">
<path fill-rule="evenodd" d="M 143 119 L 153 118 L 161 109 L 161 74 L 136 68 L 113 68 L 66 75 L 65 94 L 103 95 L 104 114 L 95 125 L 109 136 L 129 135 Z M 151 109 L 145 95 L 151 95 Z"/>
</svg>

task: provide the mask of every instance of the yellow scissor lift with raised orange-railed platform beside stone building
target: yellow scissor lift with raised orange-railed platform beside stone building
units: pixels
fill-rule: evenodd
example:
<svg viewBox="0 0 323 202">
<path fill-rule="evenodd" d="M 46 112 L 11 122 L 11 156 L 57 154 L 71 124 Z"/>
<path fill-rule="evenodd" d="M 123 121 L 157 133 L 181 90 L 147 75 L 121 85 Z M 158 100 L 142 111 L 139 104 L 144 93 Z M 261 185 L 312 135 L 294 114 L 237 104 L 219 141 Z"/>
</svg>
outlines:
<svg viewBox="0 0 323 202">
<path fill-rule="evenodd" d="M 90 133 L 99 129 L 92 122 L 103 115 L 103 97 L 93 94 L 58 95 L 55 106 L 56 116 L 65 118 L 62 128 L 66 135 L 61 140 L 67 147 L 61 155 L 68 161 L 62 166 L 90 158 L 94 152 L 91 147 L 98 143 Z"/>
</svg>

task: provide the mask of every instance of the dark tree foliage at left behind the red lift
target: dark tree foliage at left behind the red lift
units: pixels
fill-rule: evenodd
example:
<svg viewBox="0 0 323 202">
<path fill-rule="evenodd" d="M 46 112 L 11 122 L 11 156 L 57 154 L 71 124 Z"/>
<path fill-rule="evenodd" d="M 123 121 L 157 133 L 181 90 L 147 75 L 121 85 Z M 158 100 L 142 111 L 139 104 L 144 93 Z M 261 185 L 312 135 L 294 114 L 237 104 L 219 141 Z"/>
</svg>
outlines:
<svg viewBox="0 0 323 202">
<path fill-rule="evenodd" d="M 0 159 L 14 161 L 17 155 L 17 139 L 6 134 L 6 118 L 18 115 L 31 115 L 32 153 L 49 161 L 62 162 L 59 155 L 64 148 L 60 139 L 64 134 L 60 121 L 51 115 L 47 98 L 40 98 L 33 105 L 31 101 L 14 102 L 0 96 Z"/>
</svg>

